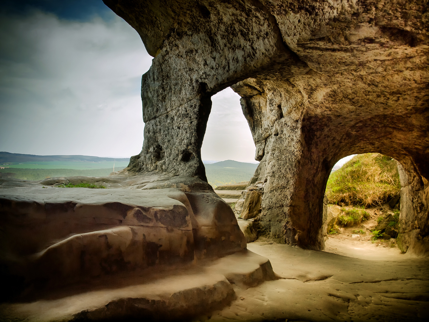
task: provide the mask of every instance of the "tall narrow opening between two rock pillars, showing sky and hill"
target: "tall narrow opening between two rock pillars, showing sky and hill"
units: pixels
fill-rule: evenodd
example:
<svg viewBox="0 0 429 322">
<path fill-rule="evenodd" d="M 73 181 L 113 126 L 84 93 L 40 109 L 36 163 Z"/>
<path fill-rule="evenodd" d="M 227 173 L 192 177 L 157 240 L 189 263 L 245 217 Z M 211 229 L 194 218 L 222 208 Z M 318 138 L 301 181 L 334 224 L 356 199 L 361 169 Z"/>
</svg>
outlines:
<svg viewBox="0 0 429 322">
<path fill-rule="evenodd" d="M 225 88 L 213 95 L 211 101 L 201 148 L 208 183 L 216 188 L 249 181 L 259 163 L 254 159 L 255 144 L 242 112 L 240 96 Z"/>
</svg>

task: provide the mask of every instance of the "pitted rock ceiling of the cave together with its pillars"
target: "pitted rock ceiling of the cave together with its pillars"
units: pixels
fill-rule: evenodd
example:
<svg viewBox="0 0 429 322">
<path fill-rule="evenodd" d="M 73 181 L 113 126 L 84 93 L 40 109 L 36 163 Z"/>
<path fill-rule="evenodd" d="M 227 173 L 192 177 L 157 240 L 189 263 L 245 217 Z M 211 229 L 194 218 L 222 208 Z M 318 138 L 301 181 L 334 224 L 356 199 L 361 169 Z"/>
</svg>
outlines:
<svg viewBox="0 0 429 322">
<path fill-rule="evenodd" d="M 270 237 L 323 249 L 332 166 L 379 152 L 407 174 L 401 204 L 413 211 L 401 220 L 417 223 L 404 249 L 429 249 L 425 1 L 105 3 L 155 57 L 142 77 L 145 141 L 128 171 L 205 180 L 210 97 L 233 85 L 261 161 L 251 183 L 266 180 L 259 222 Z"/>
</svg>

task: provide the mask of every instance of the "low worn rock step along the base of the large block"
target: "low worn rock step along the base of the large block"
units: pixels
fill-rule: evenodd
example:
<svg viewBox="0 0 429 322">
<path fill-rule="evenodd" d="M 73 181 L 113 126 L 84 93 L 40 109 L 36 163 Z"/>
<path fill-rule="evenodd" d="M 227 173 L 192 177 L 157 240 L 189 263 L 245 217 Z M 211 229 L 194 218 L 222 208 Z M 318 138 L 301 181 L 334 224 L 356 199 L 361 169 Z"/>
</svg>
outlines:
<svg viewBox="0 0 429 322">
<path fill-rule="evenodd" d="M 0 304 L 3 319 L 26 321 L 186 320 L 236 298 L 232 285 L 254 287 L 276 276 L 266 258 L 243 250 L 194 264 L 152 267 Z M 238 289 L 237 289 L 238 290 Z"/>
</svg>

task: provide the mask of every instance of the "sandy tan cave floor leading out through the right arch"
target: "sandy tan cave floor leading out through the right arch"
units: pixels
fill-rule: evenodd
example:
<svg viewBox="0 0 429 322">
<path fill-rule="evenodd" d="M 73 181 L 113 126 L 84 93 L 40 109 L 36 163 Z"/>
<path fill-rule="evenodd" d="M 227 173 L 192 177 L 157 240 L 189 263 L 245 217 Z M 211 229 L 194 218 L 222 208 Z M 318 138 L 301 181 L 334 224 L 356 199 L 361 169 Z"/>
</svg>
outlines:
<svg viewBox="0 0 429 322">
<path fill-rule="evenodd" d="M 429 321 L 429 259 L 401 254 L 394 239 L 373 243 L 376 216 L 360 237 L 356 227 L 329 235 L 321 252 L 248 243 L 279 279 L 237 287 L 229 307 L 194 321 Z"/>
</svg>

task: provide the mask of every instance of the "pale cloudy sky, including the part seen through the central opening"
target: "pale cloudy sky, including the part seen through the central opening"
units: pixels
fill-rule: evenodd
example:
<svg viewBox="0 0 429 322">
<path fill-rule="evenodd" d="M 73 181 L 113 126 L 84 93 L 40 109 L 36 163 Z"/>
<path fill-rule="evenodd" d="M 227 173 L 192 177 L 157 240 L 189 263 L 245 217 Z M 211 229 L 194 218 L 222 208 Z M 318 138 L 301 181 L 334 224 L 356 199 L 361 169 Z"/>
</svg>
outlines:
<svg viewBox="0 0 429 322">
<path fill-rule="evenodd" d="M 137 32 L 101 0 L 3 0 L 0 10 L 0 151 L 138 154 L 152 57 Z M 212 100 L 202 158 L 254 161 L 238 94 Z"/>
</svg>

